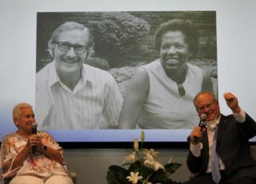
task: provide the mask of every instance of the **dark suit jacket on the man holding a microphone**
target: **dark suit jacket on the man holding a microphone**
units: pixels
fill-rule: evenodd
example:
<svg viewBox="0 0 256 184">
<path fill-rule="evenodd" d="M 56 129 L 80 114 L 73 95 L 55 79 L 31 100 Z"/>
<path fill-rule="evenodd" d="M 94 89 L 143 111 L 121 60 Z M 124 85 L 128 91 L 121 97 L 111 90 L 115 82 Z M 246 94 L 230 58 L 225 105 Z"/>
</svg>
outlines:
<svg viewBox="0 0 256 184">
<path fill-rule="evenodd" d="M 243 176 L 256 179 L 256 163 L 250 152 L 249 139 L 256 135 L 256 123 L 246 114 L 244 123 L 236 122 L 233 115 L 221 115 L 218 124 L 217 153 L 225 166 L 226 181 L 236 181 Z M 188 142 L 190 144 L 189 138 Z M 196 158 L 191 151 L 187 158 L 189 170 L 195 174 L 205 173 L 209 160 L 207 131 L 203 132 L 201 156 Z"/>
</svg>

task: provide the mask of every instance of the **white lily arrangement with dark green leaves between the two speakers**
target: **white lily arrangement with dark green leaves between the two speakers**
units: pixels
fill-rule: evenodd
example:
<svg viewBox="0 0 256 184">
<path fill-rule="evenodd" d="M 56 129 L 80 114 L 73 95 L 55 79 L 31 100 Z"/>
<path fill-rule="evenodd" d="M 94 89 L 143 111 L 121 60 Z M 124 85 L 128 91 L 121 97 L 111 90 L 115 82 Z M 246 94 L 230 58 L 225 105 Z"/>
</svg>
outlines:
<svg viewBox="0 0 256 184">
<path fill-rule="evenodd" d="M 181 164 L 171 163 L 172 158 L 168 164 L 160 164 L 157 160 L 159 152 L 155 152 L 154 149 L 143 149 L 144 139 L 142 131 L 140 146 L 137 138 L 133 139 L 134 151 L 124 158 L 123 165 L 108 167 L 108 184 L 177 183 L 172 181 L 171 175 Z"/>
</svg>

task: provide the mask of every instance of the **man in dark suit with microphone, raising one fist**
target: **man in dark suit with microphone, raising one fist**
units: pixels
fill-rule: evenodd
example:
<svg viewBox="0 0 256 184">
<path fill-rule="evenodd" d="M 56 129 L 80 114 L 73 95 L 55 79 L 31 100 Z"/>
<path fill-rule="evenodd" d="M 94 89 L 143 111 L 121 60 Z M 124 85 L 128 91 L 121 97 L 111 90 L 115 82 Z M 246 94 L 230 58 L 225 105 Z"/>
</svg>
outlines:
<svg viewBox="0 0 256 184">
<path fill-rule="evenodd" d="M 210 92 L 195 96 L 199 116 L 206 115 L 206 129 L 195 126 L 189 140 L 187 164 L 197 174 L 189 183 L 256 183 L 256 163 L 250 154 L 249 139 L 256 135 L 256 123 L 241 110 L 235 95 L 224 99 L 233 112 L 224 116 Z"/>
</svg>

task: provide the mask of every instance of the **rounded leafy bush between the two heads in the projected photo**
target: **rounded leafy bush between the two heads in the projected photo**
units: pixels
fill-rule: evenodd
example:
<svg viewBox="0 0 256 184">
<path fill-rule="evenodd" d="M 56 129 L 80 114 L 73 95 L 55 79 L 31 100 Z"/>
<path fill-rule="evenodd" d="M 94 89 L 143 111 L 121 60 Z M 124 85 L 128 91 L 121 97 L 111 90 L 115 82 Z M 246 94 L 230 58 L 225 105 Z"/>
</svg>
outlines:
<svg viewBox="0 0 256 184">
<path fill-rule="evenodd" d="M 102 20 L 91 20 L 94 32 L 95 52 L 108 60 L 110 66 L 119 57 L 129 57 L 141 49 L 141 39 L 148 35 L 150 25 L 146 20 L 127 12 L 102 13 Z"/>
</svg>

